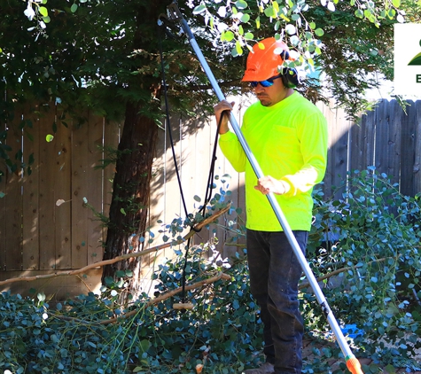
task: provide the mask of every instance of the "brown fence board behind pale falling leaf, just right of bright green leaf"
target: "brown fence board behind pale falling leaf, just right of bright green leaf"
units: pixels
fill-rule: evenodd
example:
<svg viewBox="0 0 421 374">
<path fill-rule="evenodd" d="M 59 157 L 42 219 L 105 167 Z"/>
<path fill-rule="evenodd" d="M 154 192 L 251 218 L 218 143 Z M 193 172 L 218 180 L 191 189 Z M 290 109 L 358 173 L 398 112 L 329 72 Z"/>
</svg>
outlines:
<svg viewBox="0 0 421 374">
<path fill-rule="evenodd" d="M 55 191 L 55 242 L 56 269 L 72 269 L 72 129 L 61 121 L 61 111 L 57 113 L 57 134 L 54 139 L 54 180 Z M 66 202 L 57 205 L 58 199 Z"/>
</svg>

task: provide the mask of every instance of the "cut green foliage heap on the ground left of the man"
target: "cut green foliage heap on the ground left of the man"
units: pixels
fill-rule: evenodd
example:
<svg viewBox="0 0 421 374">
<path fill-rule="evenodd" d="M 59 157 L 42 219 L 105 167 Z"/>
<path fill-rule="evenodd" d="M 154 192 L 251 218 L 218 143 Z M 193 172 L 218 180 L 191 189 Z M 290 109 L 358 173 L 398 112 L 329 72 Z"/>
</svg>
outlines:
<svg viewBox="0 0 421 374">
<path fill-rule="evenodd" d="M 178 287 L 184 257 L 160 265 L 155 295 Z M 186 276 L 198 281 L 214 274 L 203 249 L 191 250 Z M 179 297 L 145 308 L 149 299 L 123 308 L 119 293 L 130 274 L 108 279 L 100 296 L 89 293 L 51 308 L 39 300 L 0 295 L 1 370 L 14 373 L 191 373 L 199 362 L 207 372 L 238 372 L 261 345 L 261 323 L 247 285 L 244 260 L 227 270 L 230 281 L 218 281 L 196 292 L 191 311 L 172 308 Z M 122 312 L 136 315 L 101 324 Z M 213 369 L 211 369 L 213 368 Z M 225 371 L 224 371 L 225 370 Z M 229 370 L 229 371 L 226 371 Z"/>
</svg>

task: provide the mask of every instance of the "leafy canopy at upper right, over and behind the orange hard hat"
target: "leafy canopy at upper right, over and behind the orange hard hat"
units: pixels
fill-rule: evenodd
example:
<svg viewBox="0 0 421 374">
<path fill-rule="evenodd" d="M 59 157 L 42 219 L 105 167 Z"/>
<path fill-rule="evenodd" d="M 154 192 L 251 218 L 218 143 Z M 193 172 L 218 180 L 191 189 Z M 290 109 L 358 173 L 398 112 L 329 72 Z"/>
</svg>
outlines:
<svg viewBox="0 0 421 374">
<path fill-rule="evenodd" d="M 378 76 L 393 79 L 394 23 L 419 22 L 421 10 L 419 2 L 399 0 L 202 0 L 190 5 L 215 30 L 215 39 L 230 45 L 233 56 L 269 35 L 285 41 L 296 58 L 285 65 L 308 75 L 304 94 L 315 101 L 333 97 L 354 118 L 371 107 L 364 93 L 379 87 Z M 327 84 L 314 80 L 315 72 Z"/>
</svg>

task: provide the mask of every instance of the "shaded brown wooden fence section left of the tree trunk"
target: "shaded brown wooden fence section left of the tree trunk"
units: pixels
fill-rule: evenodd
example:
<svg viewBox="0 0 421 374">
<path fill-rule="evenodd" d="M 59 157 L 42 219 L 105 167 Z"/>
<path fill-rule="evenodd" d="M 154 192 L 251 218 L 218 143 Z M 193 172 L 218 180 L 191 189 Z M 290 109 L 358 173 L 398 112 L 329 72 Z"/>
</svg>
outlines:
<svg viewBox="0 0 421 374">
<path fill-rule="evenodd" d="M 2 125 L 8 129 L 11 157 L 21 150 L 25 162 L 33 154 L 35 163 L 30 174 L 27 170 L 6 173 L 0 182 L 5 193 L 0 199 L 0 279 L 80 269 L 102 258 L 104 229 L 84 198 L 106 213 L 113 168 L 95 167 L 104 159 L 103 146 L 116 146 L 119 126 L 106 125 L 104 119 L 89 114 L 88 119 L 79 127 L 63 119 L 56 106 L 27 106 Z M 97 269 L 80 278 L 81 291 L 86 291 L 85 286 L 94 288 L 99 274 Z M 52 292 L 75 291 L 74 280 L 47 283 Z M 32 284 L 21 286 L 19 291 Z"/>
</svg>

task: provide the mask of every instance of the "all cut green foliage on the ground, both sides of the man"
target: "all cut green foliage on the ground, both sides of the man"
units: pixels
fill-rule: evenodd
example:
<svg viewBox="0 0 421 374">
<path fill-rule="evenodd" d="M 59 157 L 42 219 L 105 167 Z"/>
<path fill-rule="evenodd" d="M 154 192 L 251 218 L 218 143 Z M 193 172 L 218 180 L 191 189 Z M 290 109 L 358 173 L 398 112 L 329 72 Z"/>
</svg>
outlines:
<svg viewBox="0 0 421 374">
<path fill-rule="evenodd" d="M 229 178 L 221 179 L 223 188 L 214 194 L 206 216 L 230 199 Z M 421 344 L 419 197 L 402 196 L 398 186 L 374 168 L 347 175 L 344 187 L 339 200 L 325 201 L 320 191 L 315 193 L 310 266 L 324 283 L 339 325 L 355 324 L 356 331 L 347 338 L 355 355 L 378 360 L 390 373 L 397 365 L 417 368 L 410 358 Z M 237 213 L 232 207 L 217 224 L 241 237 L 244 228 Z M 249 290 L 246 251 L 223 259 L 212 241 L 190 248 L 175 245 L 193 220 L 203 218 L 196 214 L 162 224 L 162 239 L 173 242 L 176 256 L 153 274 L 153 296 L 160 302 L 152 303 L 144 293 L 137 300 L 121 298 L 130 292 L 130 271 L 119 271 L 116 280 L 105 278 L 100 295 L 80 295 L 54 306 L 43 294 L 24 299 L 3 292 L 0 370 L 191 374 L 200 363 L 207 374 L 230 374 L 254 366 L 261 358 L 262 325 Z M 213 225 L 208 229 L 214 230 Z M 230 279 L 200 283 L 221 271 Z M 182 286 L 184 276 L 187 284 L 198 287 L 166 299 L 167 292 Z M 305 279 L 300 286 L 308 335 L 333 339 Z M 186 302 L 193 304 L 191 310 L 173 308 Z M 108 323 L 110 319 L 115 320 Z M 313 355 L 305 359 L 303 373 L 330 372 L 329 362 L 342 357 L 335 345 L 315 347 Z M 365 365 L 363 371 L 377 373 L 378 367 Z M 343 373 L 346 365 L 340 362 L 334 374 Z"/>
</svg>

